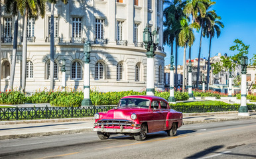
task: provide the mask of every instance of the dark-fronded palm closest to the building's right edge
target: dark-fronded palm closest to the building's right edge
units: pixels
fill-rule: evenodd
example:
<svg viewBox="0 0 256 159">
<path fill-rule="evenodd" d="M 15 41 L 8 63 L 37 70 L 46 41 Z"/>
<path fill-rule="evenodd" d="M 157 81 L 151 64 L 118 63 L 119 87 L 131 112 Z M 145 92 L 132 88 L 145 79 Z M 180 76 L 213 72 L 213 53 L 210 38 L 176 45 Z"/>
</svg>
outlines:
<svg viewBox="0 0 256 159">
<path fill-rule="evenodd" d="M 164 21 L 164 26 L 166 26 L 164 29 L 164 44 L 171 46 L 171 55 L 173 55 L 173 44 L 175 40 L 175 85 L 177 85 L 178 34 L 181 30 L 180 20 L 185 16 L 183 13 L 183 8 L 186 5 L 186 1 L 182 3 L 181 1 L 174 0 L 173 2 L 168 3 L 170 5 L 164 9 L 164 17 L 166 19 L 166 21 Z"/>
</svg>

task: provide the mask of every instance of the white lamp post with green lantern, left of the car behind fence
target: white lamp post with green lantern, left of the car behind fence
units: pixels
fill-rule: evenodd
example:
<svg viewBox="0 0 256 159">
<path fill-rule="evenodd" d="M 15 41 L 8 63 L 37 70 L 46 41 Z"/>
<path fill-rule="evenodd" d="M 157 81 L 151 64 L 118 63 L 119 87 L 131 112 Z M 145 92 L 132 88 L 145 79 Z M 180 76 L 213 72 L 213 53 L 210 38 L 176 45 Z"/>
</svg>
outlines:
<svg viewBox="0 0 256 159">
<path fill-rule="evenodd" d="M 91 44 L 88 41 L 84 44 L 84 99 L 82 106 L 92 105 L 90 99 L 90 52 Z"/>
</svg>

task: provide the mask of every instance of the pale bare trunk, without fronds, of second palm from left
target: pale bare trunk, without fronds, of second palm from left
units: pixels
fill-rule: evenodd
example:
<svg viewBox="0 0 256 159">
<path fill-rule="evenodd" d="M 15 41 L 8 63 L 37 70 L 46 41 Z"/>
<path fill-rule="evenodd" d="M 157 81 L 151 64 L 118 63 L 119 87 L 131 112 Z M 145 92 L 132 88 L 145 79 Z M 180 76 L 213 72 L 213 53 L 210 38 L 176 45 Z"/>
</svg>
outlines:
<svg viewBox="0 0 256 159">
<path fill-rule="evenodd" d="M 26 76 L 27 76 L 27 25 L 28 25 L 28 12 L 26 10 L 23 25 L 23 63 L 22 63 L 22 78 L 21 78 L 21 91 L 25 93 L 26 89 Z"/>
</svg>

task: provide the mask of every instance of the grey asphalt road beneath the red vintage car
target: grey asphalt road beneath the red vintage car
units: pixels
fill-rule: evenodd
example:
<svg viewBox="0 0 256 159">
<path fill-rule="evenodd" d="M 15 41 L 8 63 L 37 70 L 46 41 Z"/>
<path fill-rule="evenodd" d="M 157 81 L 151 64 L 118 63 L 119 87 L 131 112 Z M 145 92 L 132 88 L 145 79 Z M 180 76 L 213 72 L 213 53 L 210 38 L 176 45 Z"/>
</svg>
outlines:
<svg viewBox="0 0 256 159">
<path fill-rule="evenodd" d="M 256 158 L 256 119 L 184 125 L 141 142 L 96 132 L 0 140 L 0 158 Z"/>
</svg>

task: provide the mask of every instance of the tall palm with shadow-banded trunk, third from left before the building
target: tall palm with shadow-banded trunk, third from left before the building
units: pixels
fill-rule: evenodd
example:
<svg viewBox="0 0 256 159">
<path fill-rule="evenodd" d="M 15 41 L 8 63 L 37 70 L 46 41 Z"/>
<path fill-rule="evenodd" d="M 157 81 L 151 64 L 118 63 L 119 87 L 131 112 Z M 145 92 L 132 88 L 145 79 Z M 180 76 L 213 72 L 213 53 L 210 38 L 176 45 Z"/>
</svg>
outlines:
<svg viewBox="0 0 256 159">
<path fill-rule="evenodd" d="M 60 0 L 65 5 L 68 0 Z M 54 79 L 54 5 L 58 0 L 48 0 L 50 5 L 50 90 L 53 90 L 53 79 Z"/>
</svg>

